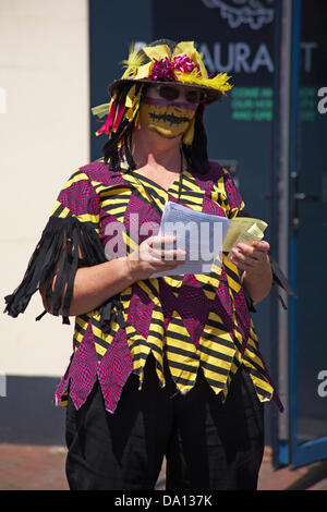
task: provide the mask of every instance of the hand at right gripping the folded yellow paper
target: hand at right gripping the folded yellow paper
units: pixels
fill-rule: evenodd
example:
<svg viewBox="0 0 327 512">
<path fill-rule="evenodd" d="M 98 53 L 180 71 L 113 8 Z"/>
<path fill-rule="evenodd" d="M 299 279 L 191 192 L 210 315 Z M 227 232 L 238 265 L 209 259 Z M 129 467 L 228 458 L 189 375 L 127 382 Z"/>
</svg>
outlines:
<svg viewBox="0 0 327 512">
<path fill-rule="evenodd" d="M 239 243 L 237 247 L 231 249 L 231 261 L 242 270 L 246 270 L 246 275 L 261 276 L 270 268 L 268 251 L 270 245 L 265 241 L 254 241 L 252 245 Z"/>
</svg>

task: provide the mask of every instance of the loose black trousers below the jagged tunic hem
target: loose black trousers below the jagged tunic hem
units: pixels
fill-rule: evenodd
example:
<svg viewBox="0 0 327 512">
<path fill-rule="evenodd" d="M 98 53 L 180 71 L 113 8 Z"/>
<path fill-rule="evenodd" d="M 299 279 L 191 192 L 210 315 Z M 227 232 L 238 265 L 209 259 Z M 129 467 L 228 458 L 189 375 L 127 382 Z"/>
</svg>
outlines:
<svg viewBox="0 0 327 512">
<path fill-rule="evenodd" d="M 225 404 L 199 370 L 195 387 L 177 393 L 167 374 L 160 388 L 155 359 L 143 390 L 129 378 L 114 414 L 98 382 L 76 411 L 66 409 L 66 477 L 72 490 L 154 489 L 164 456 L 167 490 L 256 489 L 264 451 L 264 407 L 241 366 Z"/>
</svg>

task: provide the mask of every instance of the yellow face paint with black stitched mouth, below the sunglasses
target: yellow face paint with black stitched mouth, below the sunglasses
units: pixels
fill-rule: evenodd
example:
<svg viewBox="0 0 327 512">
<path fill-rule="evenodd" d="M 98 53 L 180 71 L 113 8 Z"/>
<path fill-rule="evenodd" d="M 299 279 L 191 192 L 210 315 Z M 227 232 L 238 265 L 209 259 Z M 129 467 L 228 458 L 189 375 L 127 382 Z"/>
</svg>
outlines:
<svg viewBox="0 0 327 512">
<path fill-rule="evenodd" d="M 161 137 L 175 138 L 185 133 L 194 113 L 193 105 L 145 98 L 140 109 L 140 124 Z"/>
</svg>

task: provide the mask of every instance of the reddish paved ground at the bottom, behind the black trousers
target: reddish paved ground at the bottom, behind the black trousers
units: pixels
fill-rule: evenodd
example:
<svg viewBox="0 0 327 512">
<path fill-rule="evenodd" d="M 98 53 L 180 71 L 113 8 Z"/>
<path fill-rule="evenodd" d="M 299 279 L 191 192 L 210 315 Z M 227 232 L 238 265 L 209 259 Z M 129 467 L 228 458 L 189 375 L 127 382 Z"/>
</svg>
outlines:
<svg viewBox="0 0 327 512">
<path fill-rule="evenodd" d="M 64 447 L 0 444 L 0 490 L 69 490 Z M 165 463 L 156 486 L 165 490 Z M 266 447 L 258 490 L 327 490 L 327 461 L 274 471 Z"/>
</svg>

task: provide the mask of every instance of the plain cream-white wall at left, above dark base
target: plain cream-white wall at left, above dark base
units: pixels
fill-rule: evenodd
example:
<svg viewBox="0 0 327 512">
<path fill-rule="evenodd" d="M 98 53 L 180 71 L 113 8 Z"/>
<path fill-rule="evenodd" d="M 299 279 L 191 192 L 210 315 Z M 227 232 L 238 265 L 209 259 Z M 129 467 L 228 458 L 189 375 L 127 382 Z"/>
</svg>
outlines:
<svg viewBox="0 0 327 512">
<path fill-rule="evenodd" d="M 87 0 L 0 1 L 0 301 L 21 282 L 56 197 L 89 160 Z M 0 371 L 60 376 L 71 326 L 0 315 Z"/>
</svg>

